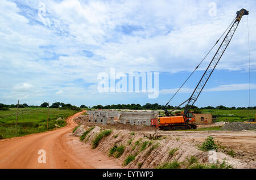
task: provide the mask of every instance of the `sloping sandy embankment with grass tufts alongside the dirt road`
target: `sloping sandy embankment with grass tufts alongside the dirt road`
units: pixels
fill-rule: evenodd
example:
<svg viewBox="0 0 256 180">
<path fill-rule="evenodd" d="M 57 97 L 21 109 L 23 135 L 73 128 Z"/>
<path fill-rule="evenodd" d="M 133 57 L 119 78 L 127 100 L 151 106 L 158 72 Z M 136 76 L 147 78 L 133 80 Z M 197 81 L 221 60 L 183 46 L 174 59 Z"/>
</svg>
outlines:
<svg viewBox="0 0 256 180">
<path fill-rule="evenodd" d="M 90 127 L 77 131 L 85 132 Z M 96 126 L 86 134 L 82 141 L 93 145 L 96 137 L 104 127 Z M 110 135 L 104 136 L 96 149 L 106 156 L 110 156 L 124 168 L 156 168 L 166 162 L 180 162 L 180 168 L 187 168 L 188 158 L 195 157 L 199 164 L 209 164 L 209 152 L 200 151 L 195 144 L 184 140 L 164 137 L 150 138 L 154 132 L 132 132 L 130 130 L 113 130 Z M 245 162 L 232 158 L 222 152 L 217 152 L 217 160 L 232 165 L 233 168 L 255 168 L 255 161 Z"/>
</svg>

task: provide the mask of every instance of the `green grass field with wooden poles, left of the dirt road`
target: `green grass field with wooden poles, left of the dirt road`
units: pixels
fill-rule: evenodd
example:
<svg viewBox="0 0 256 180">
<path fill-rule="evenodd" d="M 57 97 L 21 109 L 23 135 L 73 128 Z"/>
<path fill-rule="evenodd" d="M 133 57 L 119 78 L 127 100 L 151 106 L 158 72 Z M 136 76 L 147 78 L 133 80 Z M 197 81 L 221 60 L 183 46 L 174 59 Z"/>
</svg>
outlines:
<svg viewBox="0 0 256 180">
<path fill-rule="evenodd" d="M 48 130 L 66 125 L 65 119 L 77 113 L 70 109 L 49 109 Z M 57 121 L 61 117 L 63 120 Z M 15 128 L 16 108 L 0 110 L 0 139 L 47 131 L 47 108 L 20 108 Z"/>
</svg>

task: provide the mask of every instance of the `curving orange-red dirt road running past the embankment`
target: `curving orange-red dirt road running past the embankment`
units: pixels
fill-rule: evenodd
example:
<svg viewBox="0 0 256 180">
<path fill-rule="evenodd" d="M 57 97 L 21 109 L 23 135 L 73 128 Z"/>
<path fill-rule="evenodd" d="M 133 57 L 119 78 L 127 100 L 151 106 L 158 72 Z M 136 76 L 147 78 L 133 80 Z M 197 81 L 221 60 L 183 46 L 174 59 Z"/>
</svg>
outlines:
<svg viewBox="0 0 256 180">
<path fill-rule="evenodd" d="M 82 113 L 69 117 L 68 125 L 57 130 L 0 140 L 0 168 L 121 168 L 71 135 L 73 118 Z M 38 162 L 40 149 L 46 151 L 46 163 Z"/>
</svg>

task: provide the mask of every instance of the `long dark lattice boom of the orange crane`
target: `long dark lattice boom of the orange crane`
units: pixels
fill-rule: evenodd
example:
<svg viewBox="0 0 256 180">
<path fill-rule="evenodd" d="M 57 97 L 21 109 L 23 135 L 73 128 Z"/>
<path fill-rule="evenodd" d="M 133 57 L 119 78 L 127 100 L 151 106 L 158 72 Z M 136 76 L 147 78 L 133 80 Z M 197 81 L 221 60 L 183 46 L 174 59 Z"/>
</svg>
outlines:
<svg viewBox="0 0 256 180">
<path fill-rule="evenodd" d="M 207 83 L 208 79 L 210 78 L 210 75 L 212 75 L 212 72 L 214 68 L 217 66 L 218 62 L 220 61 L 223 53 L 225 52 L 226 48 L 229 45 L 229 42 L 231 41 L 234 32 L 236 32 L 237 26 L 240 23 L 240 20 L 243 15 L 248 15 L 249 11 L 242 8 L 240 11 L 237 11 L 237 18 L 234 20 L 234 23 L 232 27 L 229 29 L 228 33 L 226 34 L 224 40 L 221 42 L 220 47 L 218 48 L 217 52 L 215 53 L 214 57 L 212 58 L 212 61 L 210 61 L 209 66 L 204 72 L 204 75 L 200 79 L 199 83 L 197 84 L 195 90 L 193 91 L 191 97 L 188 99 L 188 103 L 185 106 L 184 109 L 184 115 L 186 115 L 189 112 L 189 109 L 191 106 L 196 102 L 197 98 L 199 97 L 201 91 L 203 90 L 205 84 Z"/>
</svg>

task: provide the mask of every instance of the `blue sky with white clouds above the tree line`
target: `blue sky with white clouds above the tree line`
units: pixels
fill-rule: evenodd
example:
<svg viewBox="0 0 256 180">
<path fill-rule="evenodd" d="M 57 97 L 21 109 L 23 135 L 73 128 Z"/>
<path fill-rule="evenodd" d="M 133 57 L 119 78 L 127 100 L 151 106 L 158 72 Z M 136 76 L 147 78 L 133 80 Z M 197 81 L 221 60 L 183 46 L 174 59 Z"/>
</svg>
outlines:
<svg viewBox="0 0 256 180">
<path fill-rule="evenodd" d="M 256 106 L 254 0 L 1 0 L 0 103 L 164 105 L 241 8 L 249 15 L 243 16 L 195 105 L 249 106 L 250 67 L 250 106 Z M 217 48 L 170 105 L 191 96 Z M 159 95 L 99 92 L 98 75 L 110 75 L 111 68 L 126 75 L 158 72 Z"/>
</svg>

